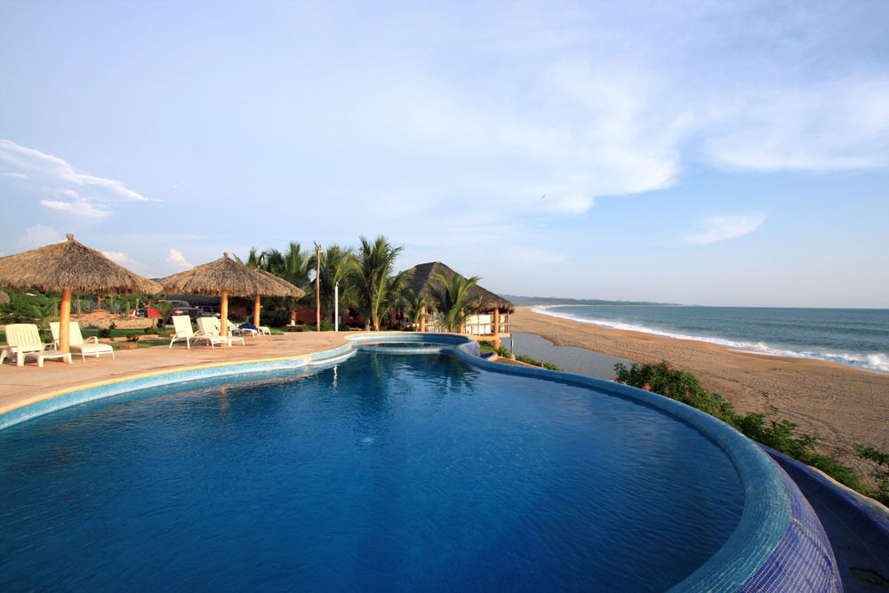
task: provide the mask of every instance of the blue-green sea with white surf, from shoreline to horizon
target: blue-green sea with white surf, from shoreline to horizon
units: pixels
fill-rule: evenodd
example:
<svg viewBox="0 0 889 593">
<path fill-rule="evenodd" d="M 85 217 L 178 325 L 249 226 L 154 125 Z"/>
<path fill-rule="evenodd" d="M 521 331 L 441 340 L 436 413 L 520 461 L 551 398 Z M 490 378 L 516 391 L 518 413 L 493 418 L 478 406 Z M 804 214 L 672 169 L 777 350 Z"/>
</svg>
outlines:
<svg viewBox="0 0 889 593">
<path fill-rule="evenodd" d="M 889 309 L 559 305 L 534 310 L 619 330 L 889 373 Z"/>
</svg>

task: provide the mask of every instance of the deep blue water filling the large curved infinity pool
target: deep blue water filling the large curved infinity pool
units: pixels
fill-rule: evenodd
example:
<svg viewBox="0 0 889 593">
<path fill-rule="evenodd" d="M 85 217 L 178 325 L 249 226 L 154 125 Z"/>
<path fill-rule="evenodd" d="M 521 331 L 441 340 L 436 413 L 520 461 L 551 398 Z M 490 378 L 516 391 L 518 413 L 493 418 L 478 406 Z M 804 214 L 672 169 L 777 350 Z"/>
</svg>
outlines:
<svg viewBox="0 0 889 593">
<path fill-rule="evenodd" d="M 0 431 L 0 589 L 662 590 L 738 525 L 731 461 L 629 399 L 358 354 Z"/>
</svg>

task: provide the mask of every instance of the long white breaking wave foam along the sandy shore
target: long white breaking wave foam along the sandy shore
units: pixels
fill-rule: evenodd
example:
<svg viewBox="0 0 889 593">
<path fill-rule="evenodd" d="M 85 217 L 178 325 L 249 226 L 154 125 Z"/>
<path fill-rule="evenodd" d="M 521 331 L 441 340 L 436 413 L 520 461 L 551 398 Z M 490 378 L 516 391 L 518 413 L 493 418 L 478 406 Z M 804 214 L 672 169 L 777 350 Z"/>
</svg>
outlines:
<svg viewBox="0 0 889 593">
<path fill-rule="evenodd" d="M 725 338 L 718 338 L 714 336 L 699 336 L 689 335 L 685 333 L 668 332 L 666 330 L 647 327 L 645 325 L 628 324 L 620 321 L 612 321 L 609 319 L 590 319 L 588 317 L 580 317 L 571 313 L 564 313 L 562 311 L 549 310 L 555 306 L 556 305 L 541 305 L 538 307 L 533 307 L 533 309 L 531 310 L 543 315 L 549 315 L 550 317 L 561 317 L 562 319 L 569 319 L 581 324 L 600 325 L 602 327 L 609 327 L 611 329 L 622 330 L 625 332 L 649 333 L 652 335 L 662 336 L 664 338 L 671 338 L 673 340 L 703 341 L 709 344 L 716 344 L 717 346 L 722 346 L 727 349 L 737 350 L 739 352 L 751 352 L 753 354 L 760 354 L 768 357 L 811 358 L 814 360 L 823 360 L 830 363 L 839 363 L 841 365 L 853 366 L 865 371 L 889 373 L 889 355 L 884 352 L 857 354 L 853 352 L 833 352 L 829 350 L 798 351 L 785 348 L 776 348 L 773 346 L 769 346 L 762 341 L 752 343 L 727 340 Z"/>
</svg>

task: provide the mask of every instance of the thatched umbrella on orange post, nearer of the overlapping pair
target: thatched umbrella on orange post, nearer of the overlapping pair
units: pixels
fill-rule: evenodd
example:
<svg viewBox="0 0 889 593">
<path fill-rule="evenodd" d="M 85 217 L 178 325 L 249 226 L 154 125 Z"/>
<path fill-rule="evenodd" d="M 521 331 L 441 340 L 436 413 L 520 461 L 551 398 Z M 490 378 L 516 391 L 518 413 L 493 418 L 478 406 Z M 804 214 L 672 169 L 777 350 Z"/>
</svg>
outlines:
<svg viewBox="0 0 889 593">
<path fill-rule="evenodd" d="M 220 295 L 221 333 L 228 333 L 228 296 L 286 296 L 287 290 L 223 253 L 219 260 L 158 280 L 166 292 Z M 295 286 L 292 286 L 296 288 Z M 297 289 L 299 290 L 299 289 Z"/>
</svg>

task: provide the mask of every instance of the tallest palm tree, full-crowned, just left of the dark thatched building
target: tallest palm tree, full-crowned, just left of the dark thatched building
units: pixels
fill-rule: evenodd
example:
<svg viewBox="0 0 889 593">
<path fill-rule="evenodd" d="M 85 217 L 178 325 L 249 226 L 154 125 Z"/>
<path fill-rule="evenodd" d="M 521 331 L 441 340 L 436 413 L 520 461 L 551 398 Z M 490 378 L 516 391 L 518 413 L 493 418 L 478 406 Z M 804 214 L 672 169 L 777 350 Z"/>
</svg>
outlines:
<svg viewBox="0 0 889 593">
<path fill-rule="evenodd" d="M 362 317 L 380 330 L 380 321 L 402 300 L 402 292 L 410 278 L 409 270 L 392 273 L 395 259 L 404 247 L 393 247 L 385 236 L 370 243 L 361 237 L 361 247 L 351 260 L 349 283 L 356 291 L 358 310 Z"/>
</svg>

